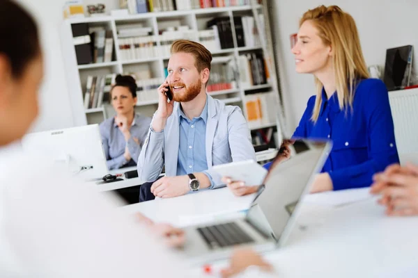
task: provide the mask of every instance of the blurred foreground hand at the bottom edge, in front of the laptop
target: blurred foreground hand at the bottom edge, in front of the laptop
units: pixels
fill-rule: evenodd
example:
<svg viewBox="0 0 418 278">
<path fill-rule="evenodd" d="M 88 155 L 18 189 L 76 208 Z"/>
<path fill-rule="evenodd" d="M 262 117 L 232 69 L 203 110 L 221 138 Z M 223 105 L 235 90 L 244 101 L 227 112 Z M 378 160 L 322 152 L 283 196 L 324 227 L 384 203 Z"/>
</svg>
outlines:
<svg viewBox="0 0 418 278">
<path fill-rule="evenodd" d="M 263 258 L 252 250 L 237 250 L 231 256 L 229 268 L 222 270 L 222 277 L 233 277 L 244 271 L 250 265 L 256 265 L 266 272 L 272 272 L 272 265 L 266 263 Z"/>
</svg>

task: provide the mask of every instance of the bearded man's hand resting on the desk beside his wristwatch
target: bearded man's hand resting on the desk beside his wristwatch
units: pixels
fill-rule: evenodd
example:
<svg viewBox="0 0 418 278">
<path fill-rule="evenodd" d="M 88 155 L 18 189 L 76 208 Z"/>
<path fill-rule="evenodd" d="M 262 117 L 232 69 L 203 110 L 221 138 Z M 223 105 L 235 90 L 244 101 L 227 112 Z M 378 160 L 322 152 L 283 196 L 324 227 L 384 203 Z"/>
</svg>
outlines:
<svg viewBox="0 0 418 278">
<path fill-rule="evenodd" d="M 185 195 L 190 190 L 189 176 L 162 177 L 151 186 L 151 193 L 155 197 L 171 198 Z"/>
</svg>

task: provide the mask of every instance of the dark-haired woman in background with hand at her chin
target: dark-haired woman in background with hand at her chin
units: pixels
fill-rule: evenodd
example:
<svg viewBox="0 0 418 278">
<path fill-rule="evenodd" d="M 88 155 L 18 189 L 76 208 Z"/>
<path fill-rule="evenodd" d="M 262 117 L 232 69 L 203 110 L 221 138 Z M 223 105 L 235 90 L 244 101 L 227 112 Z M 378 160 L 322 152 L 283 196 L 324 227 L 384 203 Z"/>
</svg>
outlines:
<svg viewBox="0 0 418 278">
<path fill-rule="evenodd" d="M 136 114 L 137 83 L 132 76 L 116 76 L 110 92 L 116 116 L 100 124 L 104 154 L 109 169 L 136 166 L 150 129 L 150 117 Z"/>
</svg>

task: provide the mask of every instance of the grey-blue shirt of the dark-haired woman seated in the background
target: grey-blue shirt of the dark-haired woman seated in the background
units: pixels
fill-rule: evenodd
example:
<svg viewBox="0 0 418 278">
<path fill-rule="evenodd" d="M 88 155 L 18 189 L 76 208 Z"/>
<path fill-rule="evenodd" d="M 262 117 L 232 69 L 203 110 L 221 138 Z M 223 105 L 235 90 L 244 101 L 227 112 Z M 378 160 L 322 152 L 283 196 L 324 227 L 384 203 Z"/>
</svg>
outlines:
<svg viewBox="0 0 418 278">
<path fill-rule="evenodd" d="M 114 117 L 104 120 L 100 124 L 103 150 L 109 170 L 137 165 L 139 153 L 150 129 L 150 123 L 150 117 L 135 114 L 134 121 L 130 127 L 131 138 L 127 142 L 122 131 L 115 123 Z M 139 145 L 133 138 L 138 138 Z M 123 156 L 125 147 L 129 150 L 130 161 L 126 161 L 125 156 Z"/>
</svg>

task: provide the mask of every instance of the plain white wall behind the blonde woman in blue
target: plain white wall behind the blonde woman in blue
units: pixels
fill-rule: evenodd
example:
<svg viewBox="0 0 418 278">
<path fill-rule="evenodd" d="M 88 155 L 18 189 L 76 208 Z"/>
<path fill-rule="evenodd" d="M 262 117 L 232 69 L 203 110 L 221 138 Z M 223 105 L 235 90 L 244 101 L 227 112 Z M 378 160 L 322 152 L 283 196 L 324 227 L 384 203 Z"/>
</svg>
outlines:
<svg viewBox="0 0 418 278">
<path fill-rule="evenodd" d="M 386 49 L 412 44 L 418 51 L 418 1 L 417 0 L 274 0 L 273 24 L 278 25 L 281 60 L 281 85 L 286 106 L 288 129 L 297 126 L 314 95 L 314 78 L 310 74 L 297 74 L 291 53 L 289 35 L 297 33 L 298 20 L 303 13 L 319 5 L 337 5 L 350 13 L 357 23 L 360 41 L 367 65 L 385 65 Z M 415 67 L 418 67 L 415 52 Z"/>
</svg>

